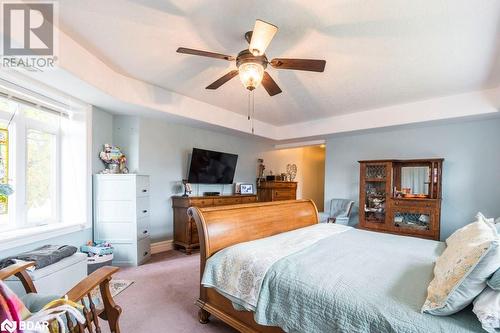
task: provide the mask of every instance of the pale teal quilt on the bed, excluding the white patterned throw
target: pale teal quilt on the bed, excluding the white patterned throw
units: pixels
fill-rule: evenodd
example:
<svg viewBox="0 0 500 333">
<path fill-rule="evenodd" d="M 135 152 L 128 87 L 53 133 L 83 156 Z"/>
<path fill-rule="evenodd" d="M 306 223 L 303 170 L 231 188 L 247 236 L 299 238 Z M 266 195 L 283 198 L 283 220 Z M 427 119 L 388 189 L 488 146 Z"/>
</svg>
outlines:
<svg viewBox="0 0 500 333">
<path fill-rule="evenodd" d="M 272 264 L 254 318 L 286 332 L 482 332 L 470 307 L 420 313 L 444 247 L 355 229 L 323 238 Z"/>
</svg>

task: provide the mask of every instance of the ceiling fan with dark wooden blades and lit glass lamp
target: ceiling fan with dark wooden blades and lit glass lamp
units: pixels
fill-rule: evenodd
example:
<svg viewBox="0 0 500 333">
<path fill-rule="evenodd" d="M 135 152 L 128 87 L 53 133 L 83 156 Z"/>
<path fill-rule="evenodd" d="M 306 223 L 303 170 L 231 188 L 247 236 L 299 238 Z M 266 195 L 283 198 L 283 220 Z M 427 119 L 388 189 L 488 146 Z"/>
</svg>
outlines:
<svg viewBox="0 0 500 333">
<path fill-rule="evenodd" d="M 325 60 L 315 59 L 274 58 L 268 61 L 265 51 L 277 31 L 278 27 L 275 25 L 262 20 L 256 20 L 253 31 L 245 33 L 245 39 L 250 44 L 249 47 L 238 53 L 236 57 L 185 47 L 179 47 L 177 52 L 228 61 L 236 60 L 236 67 L 238 69 L 232 70 L 217 79 L 208 85 L 206 89 L 217 89 L 239 74 L 241 82 L 246 89 L 252 91 L 262 83 L 268 94 L 274 96 L 281 93 L 281 89 L 265 71 L 268 64 L 276 69 L 293 69 L 312 72 L 323 72 L 326 65 Z"/>
</svg>

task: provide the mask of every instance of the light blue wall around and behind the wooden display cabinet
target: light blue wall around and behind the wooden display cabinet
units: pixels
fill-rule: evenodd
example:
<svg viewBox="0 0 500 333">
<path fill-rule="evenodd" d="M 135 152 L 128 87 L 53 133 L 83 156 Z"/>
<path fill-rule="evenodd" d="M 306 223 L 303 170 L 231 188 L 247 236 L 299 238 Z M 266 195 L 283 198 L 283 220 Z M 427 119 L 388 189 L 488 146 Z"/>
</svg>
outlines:
<svg viewBox="0 0 500 333">
<path fill-rule="evenodd" d="M 445 158 L 441 239 L 472 222 L 478 211 L 500 216 L 498 118 L 328 139 L 325 204 L 332 198 L 351 198 L 358 203 L 358 160 L 428 157 Z M 352 224 L 357 220 L 356 214 Z"/>
</svg>

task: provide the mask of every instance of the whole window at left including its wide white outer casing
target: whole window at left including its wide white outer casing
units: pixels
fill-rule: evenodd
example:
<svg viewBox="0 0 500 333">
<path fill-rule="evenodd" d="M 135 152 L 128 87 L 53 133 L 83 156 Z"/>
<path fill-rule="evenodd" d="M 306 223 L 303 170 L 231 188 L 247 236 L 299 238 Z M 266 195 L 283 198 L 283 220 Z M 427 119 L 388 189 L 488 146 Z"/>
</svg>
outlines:
<svg viewBox="0 0 500 333">
<path fill-rule="evenodd" d="M 90 227 L 91 111 L 41 83 L 0 78 L 0 251 Z"/>
</svg>

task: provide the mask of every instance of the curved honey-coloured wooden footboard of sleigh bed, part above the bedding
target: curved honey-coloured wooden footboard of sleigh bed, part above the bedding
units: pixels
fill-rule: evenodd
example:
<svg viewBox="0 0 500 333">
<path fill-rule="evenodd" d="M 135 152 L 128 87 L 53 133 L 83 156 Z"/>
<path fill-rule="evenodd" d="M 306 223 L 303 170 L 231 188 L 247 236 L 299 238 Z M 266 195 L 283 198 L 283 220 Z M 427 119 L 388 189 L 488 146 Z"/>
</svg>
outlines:
<svg viewBox="0 0 500 333">
<path fill-rule="evenodd" d="M 202 261 L 237 243 L 318 223 L 318 211 L 311 200 L 191 207 L 188 214 L 196 221 Z"/>
</svg>

